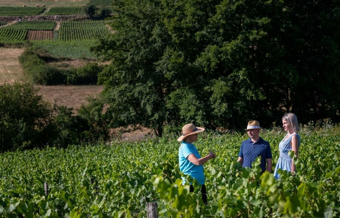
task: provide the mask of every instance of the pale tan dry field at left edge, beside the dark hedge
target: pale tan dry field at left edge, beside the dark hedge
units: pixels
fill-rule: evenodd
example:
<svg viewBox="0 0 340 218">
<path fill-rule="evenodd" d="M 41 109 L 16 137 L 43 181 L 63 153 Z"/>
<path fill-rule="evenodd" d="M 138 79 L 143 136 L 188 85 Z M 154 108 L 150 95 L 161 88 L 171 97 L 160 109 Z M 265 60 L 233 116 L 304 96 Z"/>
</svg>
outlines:
<svg viewBox="0 0 340 218">
<path fill-rule="evenodd" d="M 18 57 L 24 49 L 0 48 L 0 84 L 24 80 L 23 69 Z"/>
</svg>

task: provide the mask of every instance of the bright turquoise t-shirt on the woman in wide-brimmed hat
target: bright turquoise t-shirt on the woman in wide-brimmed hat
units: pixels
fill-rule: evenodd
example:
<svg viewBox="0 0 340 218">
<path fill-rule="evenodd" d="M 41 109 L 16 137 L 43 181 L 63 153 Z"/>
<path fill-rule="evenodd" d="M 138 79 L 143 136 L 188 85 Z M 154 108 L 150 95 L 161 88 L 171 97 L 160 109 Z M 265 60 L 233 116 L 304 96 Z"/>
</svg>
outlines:
<svg viewBox="0 0 340 218">
<path fill-rule="evenodd" d="M 188 160 L 190 154 L 194 154 L 198 159 L 201 158 L 196 147 L 193 144 L 182 141 L 179 146 L 178 159 L 179 159 L 179 169 L 185 175 L 190 175 L 196 179 L 199 184 L 205 183 L 205 177 L 203 173 L 203 165 L 197 166 Z"/>
</svg>

